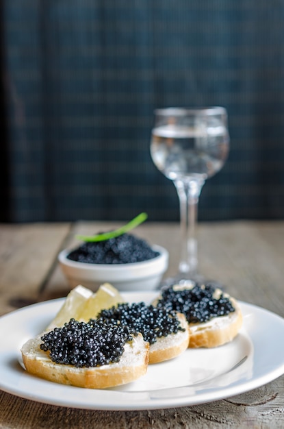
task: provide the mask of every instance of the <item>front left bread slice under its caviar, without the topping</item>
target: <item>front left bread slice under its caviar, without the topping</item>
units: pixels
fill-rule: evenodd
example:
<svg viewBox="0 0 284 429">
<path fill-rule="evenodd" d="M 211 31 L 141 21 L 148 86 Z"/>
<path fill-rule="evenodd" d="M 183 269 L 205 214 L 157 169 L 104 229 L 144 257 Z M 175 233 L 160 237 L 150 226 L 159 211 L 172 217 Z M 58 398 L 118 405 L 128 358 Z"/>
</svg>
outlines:
<svg viewBox="0 0 284 429">
<path fill-rule="evenodd" d="M 148 367 L 149 343 L 144 341 L 141 334 L 133 336 L 133 341 L 125 344 L 125 352 L 118 363 L 83 368 L 54 363 L 48 352 L 40 350 L 40 337 L 29 339 L 23 345 L 23 363 L 29 373 L 51 382 L 105 389 L 137 380 L 146 373 Z"/>
</svg>

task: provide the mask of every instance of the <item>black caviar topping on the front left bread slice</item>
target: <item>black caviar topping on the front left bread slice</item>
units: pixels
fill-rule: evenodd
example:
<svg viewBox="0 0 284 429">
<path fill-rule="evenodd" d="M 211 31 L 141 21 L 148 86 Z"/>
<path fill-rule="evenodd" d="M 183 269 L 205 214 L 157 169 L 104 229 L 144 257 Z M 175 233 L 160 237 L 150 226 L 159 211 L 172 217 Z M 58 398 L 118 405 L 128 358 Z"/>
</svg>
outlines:
<svg viewBox="0 0 284 429">
<path fill-rule="evenodd" d="M 40 349 L 49 351 L 53 362 L 75 367 L 97 367 L 119 362 L 125 343 L 133 337 L 122 326 L 70 319 L 62 328 L 54 328 L 41 339 Z"/>
</svg>

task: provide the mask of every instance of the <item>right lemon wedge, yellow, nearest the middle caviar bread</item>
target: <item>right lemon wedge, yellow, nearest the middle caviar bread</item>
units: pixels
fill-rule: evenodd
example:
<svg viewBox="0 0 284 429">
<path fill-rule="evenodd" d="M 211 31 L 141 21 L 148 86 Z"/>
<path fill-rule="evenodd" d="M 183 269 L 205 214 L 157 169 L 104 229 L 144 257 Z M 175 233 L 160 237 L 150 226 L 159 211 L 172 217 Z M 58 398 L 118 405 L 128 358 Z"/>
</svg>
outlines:
<svg viewBox="0 0 284 429">
<path fill-rule="evenodd" d="M 90 296 L 83 306 L 83 310 L 79 315 L 80 321 L 89 321 L 95 319 L 98 313 L 118 303 L 124 302 L 118 290 L 112 284 L 101 284 L 98 291 Z"/>
</svg>

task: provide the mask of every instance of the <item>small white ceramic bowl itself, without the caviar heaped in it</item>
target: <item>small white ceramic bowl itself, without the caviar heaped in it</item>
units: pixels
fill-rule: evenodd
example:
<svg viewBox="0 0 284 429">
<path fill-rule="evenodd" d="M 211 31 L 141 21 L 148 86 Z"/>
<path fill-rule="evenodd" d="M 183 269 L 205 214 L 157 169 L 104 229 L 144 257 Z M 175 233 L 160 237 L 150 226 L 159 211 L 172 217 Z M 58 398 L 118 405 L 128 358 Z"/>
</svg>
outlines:
<svg viewBox="0 0 284 429">
<path fill-rule="evenodd" d="M 96 291 L 102 283 L 112 284 L 118 291 L 153 291 L 168 269 L 168 251 L 153 245 L 156 258 L 129 264 L 88 264 L 67 258 L 70 249 L 60 252 L 58 260 L 71 288 L 78 284 Z"/>
</svg>

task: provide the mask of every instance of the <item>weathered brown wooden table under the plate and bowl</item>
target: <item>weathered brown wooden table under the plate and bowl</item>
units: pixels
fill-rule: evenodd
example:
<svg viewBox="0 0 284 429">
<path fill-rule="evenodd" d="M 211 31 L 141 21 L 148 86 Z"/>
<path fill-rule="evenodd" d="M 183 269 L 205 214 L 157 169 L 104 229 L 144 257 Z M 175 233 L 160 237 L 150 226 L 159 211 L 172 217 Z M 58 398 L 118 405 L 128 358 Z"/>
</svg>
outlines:
<svg viewBox="0 0 284 429">
<path fill-rule="evenodd" d="M 119 223 L 0 225 L 0 315 L 31 302 L 65 296 L 68 284 L 57 253 L 75 232 L 109 230 Z M 179 259 L 179 225 L 144 223 L 136 230 L 168 248 L 173 275 Z M 284 222 L 202 223 L 200 271 L 227 291 L 284 317 Z M 283 338 L 275 341 L 283 341 Z M 265 347 L 265 345 L 263 345 Z M 0 391 L 0 428 L 284 428 L 284 376 L 224 400 L 143 411 L 79 410 L 40 404 Z"/>
</svg>

